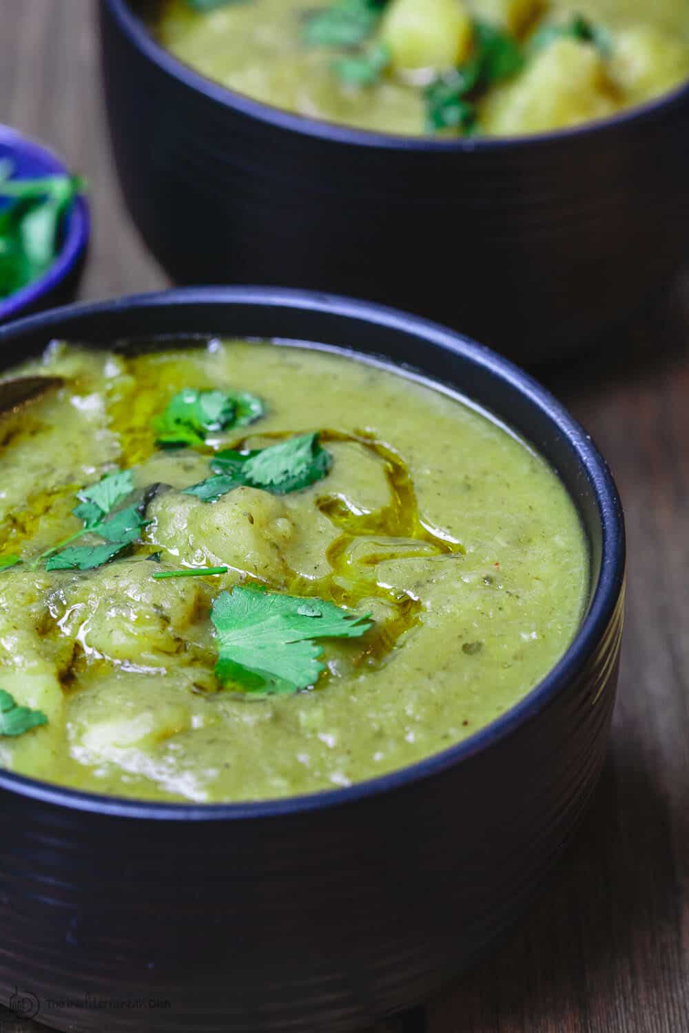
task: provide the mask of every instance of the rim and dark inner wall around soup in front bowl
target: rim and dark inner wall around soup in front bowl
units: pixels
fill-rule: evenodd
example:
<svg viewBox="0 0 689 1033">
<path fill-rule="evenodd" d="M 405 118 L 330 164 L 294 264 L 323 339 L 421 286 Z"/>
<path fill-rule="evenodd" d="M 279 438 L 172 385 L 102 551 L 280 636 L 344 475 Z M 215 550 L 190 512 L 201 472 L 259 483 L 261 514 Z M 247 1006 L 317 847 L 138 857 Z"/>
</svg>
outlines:
<svg viewBox="0 0 689 1033">
<path fill-rule="evenodd" d="M 311 796 L 249 805 L 137 804 L 106 801 L 43 786 L 0 772 L 0 787 L 22 787 L 61 803 L 117 813 L 180 817 L 240 816 L 321 806 L 393 787 L 408 778 L 455 763 L 509 733 L 569 683 L 607 627 L 624 578 L 625 541 L 620 499 L 610 473 L 590 437 L 528 374 L 460 335 L 380 306 L 331 295 L 272 288 L 187 288 L 120 299 L 93 306 L 55 309 L 0 328 L 3 367 L 63 339 L 112 346 L 118 340 L 225 335 L 268 338 L 351 350 L 382 359 L 397 372 L 420 375 L 459 392 L 526 438 L 558 472 L 576 504 L 591 550 L 587 613 L 574 641 L 556 667 L 520 703 L 488 727 L 443 753 L 372 782 Z M 33 785 L 33 789 L 31 786 Z"/>
</svg>

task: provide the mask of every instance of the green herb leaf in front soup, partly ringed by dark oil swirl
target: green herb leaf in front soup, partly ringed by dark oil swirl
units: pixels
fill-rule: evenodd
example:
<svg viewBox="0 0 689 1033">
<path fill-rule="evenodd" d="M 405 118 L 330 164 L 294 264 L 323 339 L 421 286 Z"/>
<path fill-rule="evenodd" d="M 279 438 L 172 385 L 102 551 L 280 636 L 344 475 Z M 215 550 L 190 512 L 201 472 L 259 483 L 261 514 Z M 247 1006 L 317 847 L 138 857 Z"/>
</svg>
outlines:
<svg viewBox="0 0 689 1033">
<path fill-rule="evenodd" d="M 185 488 L 203 502 L 216 502 L 234 488 L 260 488 L 272 495 L 288 495 L 321 480 L 333 465 L 333 457 L 318 440 L 318 433 L 302 434 L 280 444 L 252 451 L 231 448 L 217 452 L 211 461 L 215 476 Z"/>
</svg>

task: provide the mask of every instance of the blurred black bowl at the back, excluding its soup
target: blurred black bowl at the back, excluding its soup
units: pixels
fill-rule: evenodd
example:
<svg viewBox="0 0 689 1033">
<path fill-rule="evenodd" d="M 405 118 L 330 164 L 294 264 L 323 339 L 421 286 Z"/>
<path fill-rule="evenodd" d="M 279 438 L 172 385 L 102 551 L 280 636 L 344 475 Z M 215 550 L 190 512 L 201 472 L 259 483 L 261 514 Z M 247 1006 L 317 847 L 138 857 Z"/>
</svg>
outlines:
<svg viewBox="0 0 689 1033">
<path fill-rule="evenodd" d="M 178 282 L 343 291 L 536 362 L 689 256 L 689 85 L 543 136 L 378 135 L 205 79 L 137 17 L 155 2 L 100 0 L 103 75 L 125 197 Z"/>
</svg>

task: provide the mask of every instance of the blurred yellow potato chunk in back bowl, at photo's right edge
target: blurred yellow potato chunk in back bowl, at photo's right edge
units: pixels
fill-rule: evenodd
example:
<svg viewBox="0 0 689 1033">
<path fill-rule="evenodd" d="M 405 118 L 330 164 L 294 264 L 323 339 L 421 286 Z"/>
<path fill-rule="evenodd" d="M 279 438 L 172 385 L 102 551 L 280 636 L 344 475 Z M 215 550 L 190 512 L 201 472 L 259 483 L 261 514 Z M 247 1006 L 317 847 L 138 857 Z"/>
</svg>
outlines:
<svg viewBox="0 0 689 1033">
<path fill-rule="evenodd" d="M 689 76 L 689 48 L 655 26 L 634 26 L 616 36 L 610 74 L 627 100 L 650 100 Z"/>
</svg>

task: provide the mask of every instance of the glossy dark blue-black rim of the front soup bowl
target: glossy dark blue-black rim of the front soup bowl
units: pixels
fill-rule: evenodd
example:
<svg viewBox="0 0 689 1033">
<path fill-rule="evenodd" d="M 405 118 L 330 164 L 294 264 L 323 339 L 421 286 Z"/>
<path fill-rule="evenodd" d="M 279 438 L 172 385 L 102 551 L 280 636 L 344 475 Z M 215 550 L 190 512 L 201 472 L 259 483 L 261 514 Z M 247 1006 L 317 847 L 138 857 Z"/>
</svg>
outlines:
<svg viewBox="0 0 689 1033">
<path fill-rule="evenodd" d="M 255 306 L 261 309 L 282 308 L 335 315 L 353 322 L 366 322 L 388 331 L 402 332 L 418 341 L 440 346 L 459 354 L 478 367 L 489 378 L 502 381 L 516 389 L 528 403 L 539 409 L 554 425 L 553 430 L 564 437 L 578 459 L 598 506 L 602 528 L 601 561 L 598 580 L 591 587 L 589 608 L 565 654 L 545 677 L 514 707 L 491 724 L 477 729 L 468 739 L 413 764 L 398 769 L 351 786 L 315 791 L 306 795 L 277 800 L 261 800 L 230 804 L 166 803 L 137 801 L 84 792 L 54 785 L 28 776 L 0 769 L 0 791 L 8 790 L 33 800 L 71 810 L 87 811 L 124 818 L 163 820 L 240 820 L 272 818 L 318 811 L 338 805 L 378 796 L 409 786 L 437 775 L 468 759 L 478 752 L 497 746 L 518 731 L 563 691 L 593 655 L 619 603 L 624 587 L 626 549 L 622 503 L 609 468 L 590 435 L 565 407 L 530 374 L 491 348 L 421 316 L 401 312 L 372 302 L 338 294 L 280 287 L 182 287 L 146 294 L 132 294 L 105 302 L 70 305 L 17 320 L 0 327 L 0 354 L 3 345 L 17 335 L 42 333 L 55 336 L 65 320 L 108 318 L 122 311 L 154 311 L 176 306 Z M 207 333 L 207 332 L 205 332 Z M 223 332 L 224 333 L 224 332 Z M 131 335 L 129 335 L 131 336 Z M 117 340 L 117 330 L 114 330 Z M 285 334 L 283 340 L 295 340 Z M 307 343 L 308 342 L 304 342 Z M 327 344 L 326 341 L 319 343 Z M 355 348 L 351 349 L 354 357 Z M 365 354 L 358 352 L 358 354 Z M 383 356 L 384 358 L 384 356 Z M 385 359 L 395 365 L 390 359 Z M 422 375 L 433 384 L 437 377 Z M 495 415 L 503 418 L 499 412 Z M 509 426 L 509 419 L 506 420 Z"/>
</svg>

